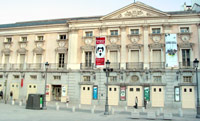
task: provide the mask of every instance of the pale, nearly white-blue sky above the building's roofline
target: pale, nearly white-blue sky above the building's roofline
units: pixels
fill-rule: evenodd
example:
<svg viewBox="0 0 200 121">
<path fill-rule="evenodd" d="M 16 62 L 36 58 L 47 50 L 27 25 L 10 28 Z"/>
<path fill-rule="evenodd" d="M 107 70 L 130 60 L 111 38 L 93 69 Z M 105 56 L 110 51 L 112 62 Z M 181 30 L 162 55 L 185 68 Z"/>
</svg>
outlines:
<svg viewBox="0 0 200 121">
<path fill-rule="evenodd" d="M 136 0 L 162 11 L 178 11 L 191 0 Z M 0 24 L 106 15 L 134 0 L 1 0 Z"/>
</svg>

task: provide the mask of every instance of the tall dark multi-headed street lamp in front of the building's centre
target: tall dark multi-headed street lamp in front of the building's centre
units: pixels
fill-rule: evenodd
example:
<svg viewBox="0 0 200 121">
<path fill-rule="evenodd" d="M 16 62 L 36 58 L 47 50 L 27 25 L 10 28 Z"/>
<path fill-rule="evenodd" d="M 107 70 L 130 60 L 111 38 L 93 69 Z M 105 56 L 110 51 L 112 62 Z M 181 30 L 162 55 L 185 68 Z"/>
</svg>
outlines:
<svg viewBox="0 0 200 121">
<path fill-rule="evenodd" d="M 105 104 L 104 115 L 109 115 L 109 112 L 108 112 L 108 77 L 109 77 L 109 72 L 113 71 L 113 69 L 110 68 L 109 60 L 106 61 L 106 68 L 104 68 L 103 71 L 106 72 L 106 104 Z"/>
</svg>

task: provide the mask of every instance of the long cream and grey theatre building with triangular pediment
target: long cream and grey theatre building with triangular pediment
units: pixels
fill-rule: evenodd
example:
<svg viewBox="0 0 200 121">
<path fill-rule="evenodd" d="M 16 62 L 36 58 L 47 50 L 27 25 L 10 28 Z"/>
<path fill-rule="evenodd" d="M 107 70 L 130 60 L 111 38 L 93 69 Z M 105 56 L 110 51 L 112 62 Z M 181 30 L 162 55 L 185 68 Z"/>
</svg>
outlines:
<svg viewBox="0 0 200 121">
<path fill-rule="evenodd" d="M 196 11 L 136 2 L 105 16 L 0 25 L 0 90 L 26 100 L 44 94 L 47 79 L 47 101 L 104 105 L 105 66 L 95 58 L 96 37 L 105 37 L 109 105 L 133 106 L 137 96 L 139 106 L 195 108 L 199 22 Z"/>
</svg>

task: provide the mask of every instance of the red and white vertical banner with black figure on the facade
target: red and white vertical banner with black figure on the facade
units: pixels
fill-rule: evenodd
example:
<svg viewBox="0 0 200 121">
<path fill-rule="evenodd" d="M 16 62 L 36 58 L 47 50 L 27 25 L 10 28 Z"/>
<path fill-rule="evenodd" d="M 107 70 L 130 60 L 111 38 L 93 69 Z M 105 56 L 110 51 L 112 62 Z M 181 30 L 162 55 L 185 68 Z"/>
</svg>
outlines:
<svg viewBox="0 0 200 121">
<path fill-rule="evenodd" d="M 105 63 L 105 37 L 96 38 L 96 67 L 103 67 Z"/>
</svg>

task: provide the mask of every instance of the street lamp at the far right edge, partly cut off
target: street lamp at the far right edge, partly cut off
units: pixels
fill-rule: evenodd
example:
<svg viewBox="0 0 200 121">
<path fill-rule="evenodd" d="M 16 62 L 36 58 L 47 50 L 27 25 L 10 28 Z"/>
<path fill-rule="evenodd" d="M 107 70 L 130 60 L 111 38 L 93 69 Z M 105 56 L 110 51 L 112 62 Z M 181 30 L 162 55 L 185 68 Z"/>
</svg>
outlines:
<svg viewBox="0 0 200 121">
<path fill-rule="evenodd" d="M 196 118 L 200 118 L 199 84 L 198 84 L 198 70 L 197 70 L 198 69 L 199 60 L 197 60 L 197 58 L 195 58 L 193 63 L 194 63 L 194 67 L 196 69 L 196 83 L 197 83 L 197 115 L 196 115 Z"/>
</svg>

